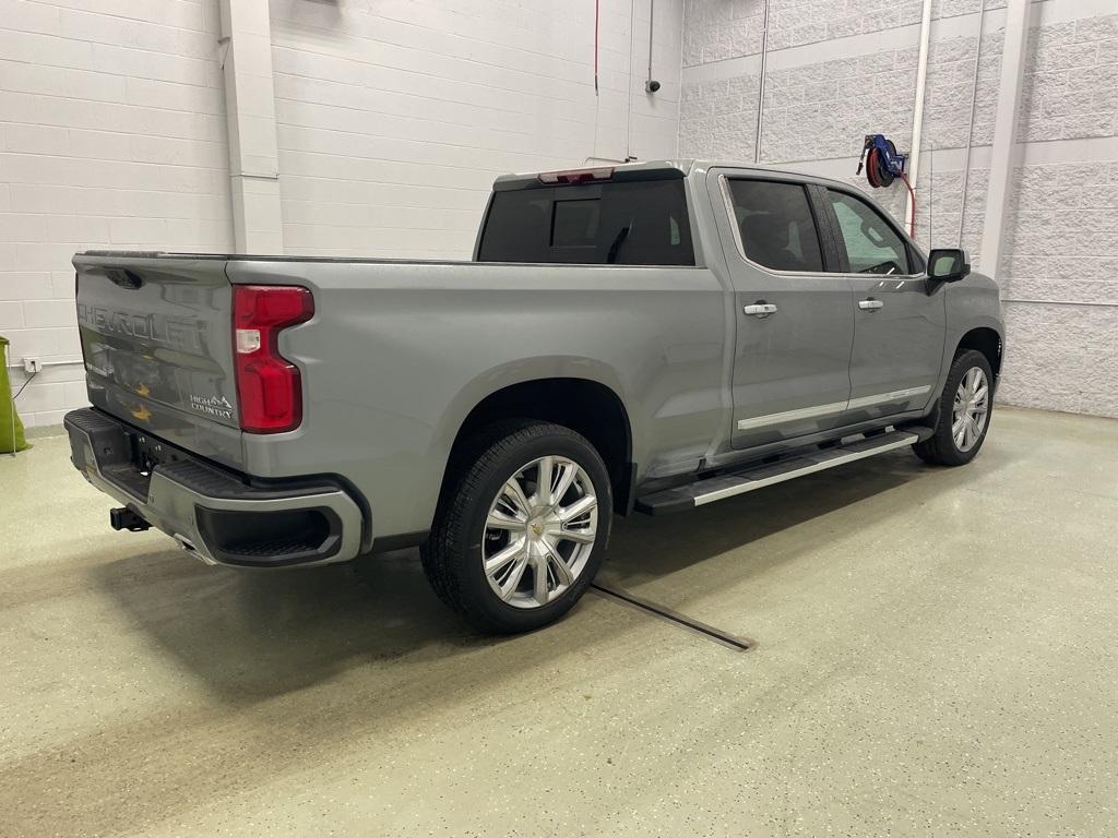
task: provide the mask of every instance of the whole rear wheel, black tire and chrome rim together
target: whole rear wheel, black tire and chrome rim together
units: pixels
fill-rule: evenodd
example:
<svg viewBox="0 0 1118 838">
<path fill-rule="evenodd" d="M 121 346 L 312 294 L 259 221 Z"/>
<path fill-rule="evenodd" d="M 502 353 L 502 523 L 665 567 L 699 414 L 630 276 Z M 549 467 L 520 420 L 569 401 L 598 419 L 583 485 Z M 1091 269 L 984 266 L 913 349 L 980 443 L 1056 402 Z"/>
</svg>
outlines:
<svg viewBox="0 0 1118 838">
<path fill-rule="evenodd" d="M 470 450 L 421 550 L 427 578 L 484 631 L 553 622 L 601 564 L 613 510 L 601 457 L 569 428 L 527 420 Z"/>
</svg>

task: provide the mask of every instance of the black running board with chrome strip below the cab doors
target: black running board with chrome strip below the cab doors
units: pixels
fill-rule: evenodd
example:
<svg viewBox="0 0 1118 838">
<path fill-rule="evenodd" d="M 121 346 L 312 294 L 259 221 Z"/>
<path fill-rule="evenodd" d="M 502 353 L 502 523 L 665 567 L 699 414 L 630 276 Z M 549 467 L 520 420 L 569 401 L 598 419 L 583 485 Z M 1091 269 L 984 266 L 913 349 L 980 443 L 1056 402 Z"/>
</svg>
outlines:
<svg viewBox="0 0 1118 838">
<path fill-rule="evenodd" d="M 636 511 L 648 515 L 663 515 L 670 512 L 692 510 L 695 506 L 865 459 L 875 454 L 891 451 L 894 448 L 903 448 L 919 440 L 919 434 L 893 430 L 859 438 L 846 445 L 813 448 L 805 454 L 788 457 L 777 463 L 755 465 L 738 472 L 705 477 L 686 486 L 675 486 L 644 495 L 636 499 Z"/>
</svg>

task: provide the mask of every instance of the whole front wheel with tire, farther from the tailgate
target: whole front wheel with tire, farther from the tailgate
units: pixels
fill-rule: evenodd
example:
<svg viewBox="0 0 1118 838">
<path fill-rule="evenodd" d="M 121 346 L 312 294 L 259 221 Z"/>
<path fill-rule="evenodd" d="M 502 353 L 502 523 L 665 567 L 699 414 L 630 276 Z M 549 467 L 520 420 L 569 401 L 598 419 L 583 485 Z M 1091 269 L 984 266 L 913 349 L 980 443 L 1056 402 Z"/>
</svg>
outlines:
<svg viewBox="0 0 1118 838">
<path fill-rule="evenodd" d="M 967 350 L 955 356 L 936 409 L 936 432 L 912 446 L 921 459 L 961 466 L 975 458 L 989 429 L 993 381 L 989 361 L 982 352 Z"/>
</svg>

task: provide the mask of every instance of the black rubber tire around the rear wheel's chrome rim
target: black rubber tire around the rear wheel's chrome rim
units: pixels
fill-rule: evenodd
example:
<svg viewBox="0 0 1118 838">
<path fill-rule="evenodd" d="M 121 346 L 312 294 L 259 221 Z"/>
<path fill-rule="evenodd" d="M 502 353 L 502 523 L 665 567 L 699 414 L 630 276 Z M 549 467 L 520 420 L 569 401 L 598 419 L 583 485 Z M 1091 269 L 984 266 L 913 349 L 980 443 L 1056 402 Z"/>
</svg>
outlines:
<svg viewBox="0 0 1118 838">
<path fill-rule="evenodd" d="M 547 456 L 574 460 L 589 477 L 598 498 L 597 531 L 589 558 L 567 590 L 547 604 L 518 608 L 502 601 L 485 575 L 485 520 L 505 480 L 525 464 Z M 518 634 L 555 622 L 590 587 L 609 539 L 613 493 L 598 451 L 582 436 L 560 425 L 512 420 L 482 431 L 455 459 L 430 536 L 420 549 L 424 571 L 435 593 L 485 632 Z"/>
</svg>

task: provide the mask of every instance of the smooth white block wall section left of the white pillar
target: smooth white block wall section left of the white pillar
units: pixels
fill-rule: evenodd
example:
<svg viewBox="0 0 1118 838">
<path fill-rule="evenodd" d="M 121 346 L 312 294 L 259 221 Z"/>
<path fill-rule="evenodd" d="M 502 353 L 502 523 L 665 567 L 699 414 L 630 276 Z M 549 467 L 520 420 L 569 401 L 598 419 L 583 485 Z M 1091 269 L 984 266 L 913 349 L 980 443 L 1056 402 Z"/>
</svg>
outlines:
<svg viewBox="0 0 1118 838">
<path fill-rule="evenodd" d="M 76 250 L 230 245 L 216 31 L 210 0 L 0 0 L 0 333 L 51 364 L 29 426 L 85 403 Z"/>
</svg>

